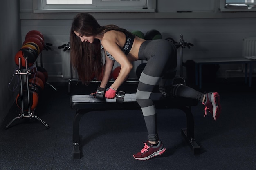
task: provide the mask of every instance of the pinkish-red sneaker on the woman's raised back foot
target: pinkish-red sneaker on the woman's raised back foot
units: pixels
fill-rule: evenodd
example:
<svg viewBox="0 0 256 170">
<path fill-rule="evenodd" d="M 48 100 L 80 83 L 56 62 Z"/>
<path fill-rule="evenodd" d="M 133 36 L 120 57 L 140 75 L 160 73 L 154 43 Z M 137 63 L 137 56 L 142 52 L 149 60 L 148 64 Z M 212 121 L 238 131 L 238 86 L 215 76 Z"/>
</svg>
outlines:
<svg viewBox="0 0 256 170">
<path fill-rule="evenodd" d="M 220 95 L 218 92 L 205 94 L 206 102 L 203 102 L 205 108 L 204 116 L 207 115 L 207 110 L 213 115 L 213 119 L 216 120 L 220 116 Z"/>
</svg>

